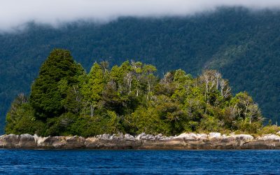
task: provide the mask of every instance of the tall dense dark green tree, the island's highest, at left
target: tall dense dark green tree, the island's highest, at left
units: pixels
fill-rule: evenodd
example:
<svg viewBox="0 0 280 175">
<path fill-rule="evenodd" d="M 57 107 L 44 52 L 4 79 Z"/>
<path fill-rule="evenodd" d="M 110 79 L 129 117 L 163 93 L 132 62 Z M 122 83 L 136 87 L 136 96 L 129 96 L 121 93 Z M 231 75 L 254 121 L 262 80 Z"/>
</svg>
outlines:
<svg viewBox="0 0 280 175">
<path fill-rule="evenodd" d="M 78 83 L 76 78 L 78 73 L 80 73 L 78 65 L 73 61 L 69 51 L 55 49 L 50 53 L 31 87 L 30 104 L 37 118 L 60 116 L 64 112 L 63 104 L 68 105 L 68 108 L 71 107 L 69 98 L 73 98 L 70 96 L 73 96 L 74 92 L 69 86 Z M 65 99 L 67 91 L 72 94 Z"/>
</svg>

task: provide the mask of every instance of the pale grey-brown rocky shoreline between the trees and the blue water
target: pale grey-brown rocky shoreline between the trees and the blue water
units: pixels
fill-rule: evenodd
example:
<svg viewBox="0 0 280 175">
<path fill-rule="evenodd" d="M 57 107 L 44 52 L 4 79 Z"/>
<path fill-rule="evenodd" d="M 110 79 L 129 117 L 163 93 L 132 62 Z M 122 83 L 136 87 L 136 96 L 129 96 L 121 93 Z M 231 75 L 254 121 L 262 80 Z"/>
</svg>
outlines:
<svg viewBox="0 0 280 175">
<path fill-rule="evenodd" d="M 183 133 L 176 137 L 162 134 L 102 134 L 97 137 L 38 137 L 30 134 L 0 136 L 0 148 L 22 149 L 146 149 L 146 150 L 223 150 L 223 149 L 280 149 L 280 136 L 266 134 L 222 135 Z"/>
</svg>

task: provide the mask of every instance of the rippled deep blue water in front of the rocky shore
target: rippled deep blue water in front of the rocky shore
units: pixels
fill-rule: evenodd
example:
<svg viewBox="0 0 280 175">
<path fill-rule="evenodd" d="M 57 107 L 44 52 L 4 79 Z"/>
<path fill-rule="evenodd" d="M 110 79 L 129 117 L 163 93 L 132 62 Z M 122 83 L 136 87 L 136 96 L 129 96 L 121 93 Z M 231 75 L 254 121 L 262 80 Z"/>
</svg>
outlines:
<svg viewBox="0 0 280 175">
<path fill-rule="evenodd" d="M 0 174 L 280 174 L 280 151 L 0 150 Z"/>
</svg>

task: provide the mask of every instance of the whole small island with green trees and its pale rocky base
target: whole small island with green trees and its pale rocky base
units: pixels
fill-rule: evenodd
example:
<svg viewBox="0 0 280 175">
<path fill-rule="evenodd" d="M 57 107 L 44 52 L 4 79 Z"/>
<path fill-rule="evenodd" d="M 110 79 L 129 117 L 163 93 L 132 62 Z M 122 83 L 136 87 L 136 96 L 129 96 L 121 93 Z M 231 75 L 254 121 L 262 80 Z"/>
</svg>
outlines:
<svg viewBox="0 0 280 175">
<path fill-rule="evenodd" d="M 30 94 L 11 104 L 0 148 L 280 148 L 280 128 L 264 120 L 253 98 L 233 94 L 216 70 L 161 76 L 132 60 L 95 62 L 86 73 L 69 50 L 55 49 Z"/>
</svg>

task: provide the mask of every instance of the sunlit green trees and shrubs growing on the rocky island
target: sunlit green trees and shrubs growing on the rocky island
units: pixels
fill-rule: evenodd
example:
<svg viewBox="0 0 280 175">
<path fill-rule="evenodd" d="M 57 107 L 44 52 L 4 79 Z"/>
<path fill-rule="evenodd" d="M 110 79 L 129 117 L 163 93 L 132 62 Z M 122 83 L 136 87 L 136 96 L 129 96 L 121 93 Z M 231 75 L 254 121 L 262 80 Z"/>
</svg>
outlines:
<svg viewBox="0 0 280 175">
<path fill-rule="evenodd" d="M 235 96 L 215 70 L 193 78 L 182 69 L 158 78 L 156 67 L 126 61 L 109 69 L 95 62 L 89 73 L 68 50 L 43 62 L 29 96 L 19 94 L 6 116 L 6 133 L 41 136 L 182 132 L 249 132 L 262 127 L 258 105 Z"/>
</svg>

